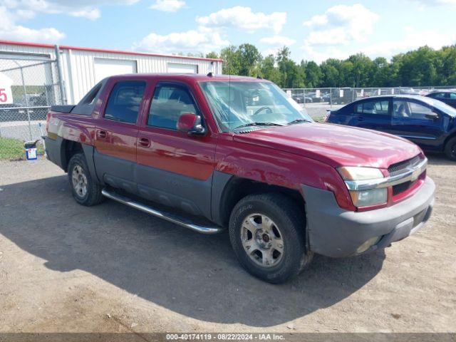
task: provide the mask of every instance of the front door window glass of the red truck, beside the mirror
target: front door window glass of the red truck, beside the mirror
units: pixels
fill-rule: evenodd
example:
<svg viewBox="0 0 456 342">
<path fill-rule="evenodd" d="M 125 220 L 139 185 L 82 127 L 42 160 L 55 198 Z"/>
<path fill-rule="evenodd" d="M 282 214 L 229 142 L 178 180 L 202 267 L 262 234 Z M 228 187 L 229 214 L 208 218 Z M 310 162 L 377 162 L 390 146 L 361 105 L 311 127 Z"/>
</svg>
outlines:
<svg viewBox="0 0 456 342">
<path fill-rule="evenodd" d="M 189 91 L 182 86 L 158 85 L 150 104 L 147 125 L 175 130 L 177 120 L 184 113 L 197 114 Z"/>
</svg>

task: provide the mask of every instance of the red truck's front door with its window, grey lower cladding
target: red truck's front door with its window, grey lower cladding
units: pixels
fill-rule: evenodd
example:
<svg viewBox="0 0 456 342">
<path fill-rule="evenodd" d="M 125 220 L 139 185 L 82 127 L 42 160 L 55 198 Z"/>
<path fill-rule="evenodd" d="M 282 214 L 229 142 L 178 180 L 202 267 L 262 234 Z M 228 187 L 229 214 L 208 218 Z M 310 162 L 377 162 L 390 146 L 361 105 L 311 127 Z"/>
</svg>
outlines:
<svg viewBox="0 0 456 342">
<path fill-rule="evenodd" d="M 157 83 L 138 135 L 136 177 L 141 197 L 210 217 L 216 138 L 177 131 L 180 115 L 202 117 L 195 95 L 183 83 Z"/>
</svg>

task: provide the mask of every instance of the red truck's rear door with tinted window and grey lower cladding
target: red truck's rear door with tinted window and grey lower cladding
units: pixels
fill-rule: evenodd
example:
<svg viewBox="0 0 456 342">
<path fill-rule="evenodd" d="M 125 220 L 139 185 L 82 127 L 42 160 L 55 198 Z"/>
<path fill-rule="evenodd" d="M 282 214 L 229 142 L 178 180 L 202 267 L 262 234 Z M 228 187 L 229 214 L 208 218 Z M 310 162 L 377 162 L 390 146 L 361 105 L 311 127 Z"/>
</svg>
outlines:
<svg viewBox="0 0 456 342">
<path fill-rule="evenodd" d="M 111 80 L 107 85 L 100 117 L 95 128 L 93 159 L 98 178 L 106 184 L 135 193 L 134 170 L 138 117 L 146 82 L 132 79 Z"/>
</svg>

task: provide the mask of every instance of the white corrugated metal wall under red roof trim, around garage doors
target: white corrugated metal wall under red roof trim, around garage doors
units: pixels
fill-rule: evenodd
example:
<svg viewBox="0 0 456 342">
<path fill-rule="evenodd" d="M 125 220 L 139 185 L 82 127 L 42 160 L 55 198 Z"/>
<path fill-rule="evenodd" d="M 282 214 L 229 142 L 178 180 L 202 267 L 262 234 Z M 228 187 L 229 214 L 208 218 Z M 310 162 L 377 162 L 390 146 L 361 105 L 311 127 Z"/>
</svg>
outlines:
<svg viewBox="0 0 456 342">
<path fill-rule="evenodd" d="M 117 60 L 136 61 L 138 73 L 166 73 L 168 63 L 197 65 L 198 73 L 222 73 L 221 61 L 178 58 L 172 56 L 147 56 L 142 54 L 124 54 L 98 51 L 81 51 L 63 48 L 61 65 L 65 81 L 68 103 L 77 103 L 90 88 L 95 86 L 94 58 L 110 58 Z M 1 54 L 21 54 L 35 58 L 55 58 L 54 49 L 49 47 L 0 43 Z M 19 55 L 18 55 L 19 56 Z"/>
</svg>

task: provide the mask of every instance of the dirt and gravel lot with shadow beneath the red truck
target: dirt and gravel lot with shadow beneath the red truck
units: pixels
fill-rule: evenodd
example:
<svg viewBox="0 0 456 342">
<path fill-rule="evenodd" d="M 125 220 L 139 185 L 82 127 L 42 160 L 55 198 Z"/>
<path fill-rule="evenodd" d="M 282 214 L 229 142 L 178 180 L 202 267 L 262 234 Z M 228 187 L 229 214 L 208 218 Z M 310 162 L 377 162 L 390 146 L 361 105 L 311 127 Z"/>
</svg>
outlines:
<svg viewBox="0 0 456 342">
<path fill-rule="evenodd" d="M 46 160 L 0 162 L 0 332 L 455 332 L 456 164 L 430 156 L 435 212 L 413 237 L 315 257 L 289 284 L 249 276 L 227 234 L 113 201 L 81 207 Z"/>
</svg>

